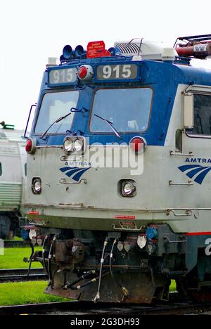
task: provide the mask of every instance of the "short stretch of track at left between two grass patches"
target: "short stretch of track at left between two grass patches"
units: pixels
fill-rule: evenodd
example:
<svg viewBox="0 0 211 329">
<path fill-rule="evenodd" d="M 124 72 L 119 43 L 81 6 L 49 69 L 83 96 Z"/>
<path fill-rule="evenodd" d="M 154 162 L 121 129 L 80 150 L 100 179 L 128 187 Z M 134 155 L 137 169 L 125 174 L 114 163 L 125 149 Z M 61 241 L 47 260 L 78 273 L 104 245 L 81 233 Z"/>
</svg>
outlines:
<svg viewBox="0 0 211 329">
<path fill-rule="evenodd" d="M 31 269 L 30 275 L 27 275 L 28 269 L 1 269 L 0 283 L 6 282 L 23 282 L 46 280 L 47 276 L 43 269 Z"/>
</svg>

